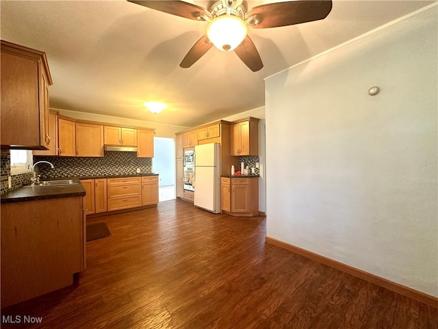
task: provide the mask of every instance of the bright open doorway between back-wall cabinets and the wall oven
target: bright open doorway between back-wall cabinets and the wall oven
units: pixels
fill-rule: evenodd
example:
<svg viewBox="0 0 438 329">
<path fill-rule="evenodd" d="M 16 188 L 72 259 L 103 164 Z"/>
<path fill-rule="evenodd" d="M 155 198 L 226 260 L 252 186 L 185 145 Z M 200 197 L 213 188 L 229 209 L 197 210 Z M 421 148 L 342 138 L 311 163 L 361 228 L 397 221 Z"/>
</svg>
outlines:
<svg viewBox="0 0 438 329">
<path fill-rule="evenodd" d="M 175 139 L 154 137 L 152 168 L 159 174 L 159 202 L 176 199 L 175 193 Z"/>
</svg>

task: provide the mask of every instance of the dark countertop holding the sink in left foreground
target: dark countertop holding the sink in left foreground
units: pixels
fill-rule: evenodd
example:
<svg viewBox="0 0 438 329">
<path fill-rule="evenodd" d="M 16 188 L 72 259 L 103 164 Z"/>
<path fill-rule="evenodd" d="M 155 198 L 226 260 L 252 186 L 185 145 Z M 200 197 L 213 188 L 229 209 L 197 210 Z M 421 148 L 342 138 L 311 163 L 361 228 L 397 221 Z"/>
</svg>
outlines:
<svg viewBox="0 0 438 329">
<path fill-rule="evenodd" d="M 8 193 L 1 195 L 1 203 L 25 202 L 42 199 L 55 199 L 58 197 L 83 197 L 85 189 L 79 178 L 70 178 L 77 184 L 62 186 L 34 186 L 19 187 Z"/>
</svg>

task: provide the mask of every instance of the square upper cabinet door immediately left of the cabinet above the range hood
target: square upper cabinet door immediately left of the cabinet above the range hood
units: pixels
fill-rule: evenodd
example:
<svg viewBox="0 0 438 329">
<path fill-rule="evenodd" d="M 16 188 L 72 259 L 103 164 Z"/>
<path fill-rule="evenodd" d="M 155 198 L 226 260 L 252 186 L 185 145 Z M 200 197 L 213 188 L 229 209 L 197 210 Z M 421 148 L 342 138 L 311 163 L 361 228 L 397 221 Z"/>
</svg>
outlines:
<svg viewBox="0 0 438 329">
<path fill-rule="evenodd" d="M 103 125 L 76 123 L 76 156 L 103 156 Z"/>
</svg>

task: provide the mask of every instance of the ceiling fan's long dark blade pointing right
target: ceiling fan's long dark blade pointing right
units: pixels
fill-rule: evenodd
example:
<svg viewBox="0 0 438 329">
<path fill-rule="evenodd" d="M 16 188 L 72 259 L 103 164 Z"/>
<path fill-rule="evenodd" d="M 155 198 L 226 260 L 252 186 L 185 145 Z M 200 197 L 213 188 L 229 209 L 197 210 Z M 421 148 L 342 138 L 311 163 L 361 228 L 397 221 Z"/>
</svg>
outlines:
<svg viewBox="0 0 438 329">
<path fill-rule="evenodd" d="M 257 5 L 246 13 L 245 19 L 256 16 L 255 29 L 279 27 L 325 19 L 331 12 L 329 0 L 296 0 Z"/>
</svg>

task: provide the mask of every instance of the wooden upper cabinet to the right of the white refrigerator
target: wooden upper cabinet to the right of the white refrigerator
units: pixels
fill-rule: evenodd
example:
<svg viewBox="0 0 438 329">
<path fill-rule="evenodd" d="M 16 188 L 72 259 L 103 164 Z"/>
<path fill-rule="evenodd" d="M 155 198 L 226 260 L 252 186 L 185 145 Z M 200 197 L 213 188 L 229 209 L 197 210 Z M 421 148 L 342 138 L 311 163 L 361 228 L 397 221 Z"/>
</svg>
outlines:
<svg viewBox="0 0 438 329">
<path fill-rule="evenodd" d="M 257 156 L 259 154 L 259 119 L 248 118 L 231 123 L 231 156 Z"/>
</svg>

